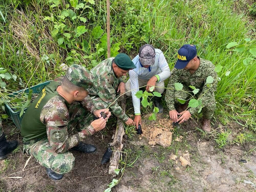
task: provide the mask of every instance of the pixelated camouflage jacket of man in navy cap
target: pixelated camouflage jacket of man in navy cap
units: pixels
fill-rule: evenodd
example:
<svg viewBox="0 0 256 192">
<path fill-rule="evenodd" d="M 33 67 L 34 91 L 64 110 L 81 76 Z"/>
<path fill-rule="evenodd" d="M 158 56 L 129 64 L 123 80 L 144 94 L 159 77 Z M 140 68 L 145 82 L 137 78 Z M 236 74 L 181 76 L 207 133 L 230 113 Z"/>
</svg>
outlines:
<svg viewBox="0 0 256 192">
<path fill-rule="evenodd" d="M 206 78 L 208 76 L 211 76 L 214 78 L 213 83 L 210 84 L 210 88 L 206 85 Z M 173 68 L 171 71 L 171 77 L 169 79 L 169 83 L 167 85 L 167 88 L 175 89 L 174 83 L 179 82 L 182 83 L 183 86 L 187 87 L 192 85 L 195 86 L 197 89 L 199 89 L 199 92 L 196 94 L 197 98 L 202 99 L 202 105 L 204 106 L 204 103 L 209 100 L 209 98 L 214 97 L 214 92 L 217 88 L 218 83 L 218 75 L 215 72 L 215 66 L 208 60 L 201 59 L 200 58 L 200 65 L 198 69 L 195 71 L 195 73 L 190 74 L 188 70 L 185 69 L 176 69 Z M 188 88 L 190 89 L 190 88 Z M 175 101 L 175 91 L 167 89 L 165 94 L 165 101 L 166 105 L 168 107 L 169 111 L 175 110 L 174 107 L 174 101 Z M 193 91 L 192 89 L 190 91 Z M 193 93 L 192 93 L 193 94 Z M 189 108 L 188 111 L 191 114 L 194 114 L 199 110 L 200 106 L 196 108 Z"/>
</svg>

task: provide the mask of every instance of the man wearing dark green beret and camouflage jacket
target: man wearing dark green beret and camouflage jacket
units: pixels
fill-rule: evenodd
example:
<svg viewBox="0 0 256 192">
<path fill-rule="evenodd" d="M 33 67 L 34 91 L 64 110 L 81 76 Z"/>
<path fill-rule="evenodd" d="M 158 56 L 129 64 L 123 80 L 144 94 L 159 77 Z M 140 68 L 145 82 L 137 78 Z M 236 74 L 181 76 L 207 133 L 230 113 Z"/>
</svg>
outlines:
<svg viewBox="0 0 256 192">
<path fill-rule="evenodd" d="M 125 83 L 122 80 L 122 76 L 125 76 L 129 70 L 134 68 L 136 66 L 130 57 L 124 53 L 119 53 L 116 57 L 105 59 L 91 69 L 98 88 L 98 95 L 93 99 L 97 109 L 107 108 L 115 101 L 118 92 L 120 92 L 120 95 L 125 92 Z M 126 125 L 135 125 L 134 121 L 118 105 L 117 101 L 110 106 L 110 109 Z"/>
</svg>

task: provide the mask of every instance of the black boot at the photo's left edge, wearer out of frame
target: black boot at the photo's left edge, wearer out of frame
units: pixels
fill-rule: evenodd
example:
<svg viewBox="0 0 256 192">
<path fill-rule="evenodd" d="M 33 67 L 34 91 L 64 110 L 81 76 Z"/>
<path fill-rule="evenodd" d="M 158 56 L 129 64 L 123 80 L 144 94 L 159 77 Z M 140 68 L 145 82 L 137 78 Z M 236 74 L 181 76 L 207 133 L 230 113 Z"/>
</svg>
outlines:
<svg viewBox="0 0 256 192">
<path fill-rule="evenodd" d="M 18 146 L 18 141 L 7 141 L 4 134 L 0 137 L 0 159 L 6 158 Z"/>
</svg>

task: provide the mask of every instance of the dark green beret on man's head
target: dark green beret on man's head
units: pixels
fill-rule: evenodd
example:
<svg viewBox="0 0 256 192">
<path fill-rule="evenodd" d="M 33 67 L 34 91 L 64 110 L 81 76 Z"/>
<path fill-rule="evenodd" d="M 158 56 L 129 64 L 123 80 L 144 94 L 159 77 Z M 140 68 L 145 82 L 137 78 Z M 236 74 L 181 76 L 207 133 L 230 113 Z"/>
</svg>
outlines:
<svg viewBox="0 0 256 192">
<path fill-rule="evenodd" d="M 136 68 L 131 58 L 124 53 L 119 53 L 117 56 L 115 56 L 114 62 L 119 68 L 123 70 L 131 70 Z"/>
</svg>

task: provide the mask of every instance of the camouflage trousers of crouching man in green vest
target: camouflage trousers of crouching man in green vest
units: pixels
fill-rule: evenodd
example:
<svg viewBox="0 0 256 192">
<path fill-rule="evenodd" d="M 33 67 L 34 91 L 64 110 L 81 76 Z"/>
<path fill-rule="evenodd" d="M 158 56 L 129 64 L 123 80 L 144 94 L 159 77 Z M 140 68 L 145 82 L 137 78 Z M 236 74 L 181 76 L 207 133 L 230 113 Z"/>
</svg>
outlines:
<svg viewBox="0 0 256 192">
<path fill-rule="evenodd" d="M 80 103 L 73 102 L 69 108 L 70 119 L 68 121 L 68 134 L 75 134 L 93 121 L 93 115 L 84 109 Z M 24 150 L 33 155 L 36 161 L 47 168 L 50 168 L 55 173 L 65 174 L 72 170 L 75 163 L 73 154 L 69 151 L 64 153 L 56 153 L 52 150 L 47 136 L 30 140 L 29 144 L 24 144 Z"/>
</svg>

